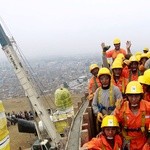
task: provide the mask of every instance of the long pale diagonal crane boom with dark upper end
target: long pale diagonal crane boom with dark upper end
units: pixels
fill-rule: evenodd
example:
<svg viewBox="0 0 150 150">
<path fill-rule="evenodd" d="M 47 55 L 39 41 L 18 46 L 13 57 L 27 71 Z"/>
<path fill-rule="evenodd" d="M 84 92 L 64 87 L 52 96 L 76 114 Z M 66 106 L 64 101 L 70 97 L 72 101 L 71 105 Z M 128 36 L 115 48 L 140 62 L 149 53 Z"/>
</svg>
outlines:
<svg viewBox="0 0 150 150">
<path fill-rule="evenodd" d="M 43 107 L 40 96 L 38 95 L 36 89 L 34 88 L 34 85 L 32 81 L 30 80 L 26 69 L 21 63 L 20 58 L 18 57 L 10 39 L 6 35 L 5 31 L 3 30 L 3 27 L 1 24 L 0 24 L 0 44 L 9 62 L 13 66 L 14 72 L 25 91 L 25 95 L 29 98 L 32 107 L 37 112 L 40 120 L 43 122 L 43 125 L 47 131 L 47 134 L 51 138 L 53 144 L 56 147 L 58 147 L 61 137 L 57 133 L 53 122 L 50 120 L 50 117 L 47 111 Z"/>
</svg>

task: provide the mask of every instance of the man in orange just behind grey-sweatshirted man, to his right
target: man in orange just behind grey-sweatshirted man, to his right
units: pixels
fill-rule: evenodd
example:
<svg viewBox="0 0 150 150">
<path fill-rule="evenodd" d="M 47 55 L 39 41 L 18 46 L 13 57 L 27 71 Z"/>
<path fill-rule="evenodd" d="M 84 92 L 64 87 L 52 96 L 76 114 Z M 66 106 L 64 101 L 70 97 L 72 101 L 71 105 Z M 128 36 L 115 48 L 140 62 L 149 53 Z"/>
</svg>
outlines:
<svg viewBox="0 0 150 150">
<path fill-rule="evenodd" d="M 118 54 L 119 55 L 119 54 Z M 112 83 L 117 86 L 122 95 L 125 94 L 125 88 L 128 83 L 127 78 L 125 78 L 122 74 L 122 62 L 123 60 L 117 58 L 114 60 L 111 69 L 112 69 Z"/>
</svg>

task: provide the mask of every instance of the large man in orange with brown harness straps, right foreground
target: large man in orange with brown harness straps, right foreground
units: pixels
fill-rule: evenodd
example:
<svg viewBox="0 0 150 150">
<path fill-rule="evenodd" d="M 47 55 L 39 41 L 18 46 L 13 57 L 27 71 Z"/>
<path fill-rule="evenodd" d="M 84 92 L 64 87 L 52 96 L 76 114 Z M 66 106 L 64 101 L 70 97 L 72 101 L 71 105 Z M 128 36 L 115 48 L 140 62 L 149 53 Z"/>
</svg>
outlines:
<svg viewBox="0 0 150 150">
<path fill-rule="evenodd" d="M 150 124 L 150 103 L 142 99 L 143 88 L 138 81 L 128 83 L 126 96 L 126 101 L 117 101 L 114 111 L 122 127 L 123 148 L 142 150 Z"/>
</svg>

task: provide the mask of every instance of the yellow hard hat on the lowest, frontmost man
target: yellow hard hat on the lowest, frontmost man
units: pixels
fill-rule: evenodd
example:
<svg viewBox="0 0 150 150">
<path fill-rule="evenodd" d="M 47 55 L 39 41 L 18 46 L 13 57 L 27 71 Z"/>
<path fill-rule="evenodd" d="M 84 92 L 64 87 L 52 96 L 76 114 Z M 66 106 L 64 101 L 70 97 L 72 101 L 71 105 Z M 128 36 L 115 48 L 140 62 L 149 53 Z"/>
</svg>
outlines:
<svg viewBox="0 0 150 150">
<path fill-rule="evenodd" d="M 119 127 L 117 118 L 114 115 L 107 115 L 103 118 L 101 128 L 104 127 Z"/>
</svg>

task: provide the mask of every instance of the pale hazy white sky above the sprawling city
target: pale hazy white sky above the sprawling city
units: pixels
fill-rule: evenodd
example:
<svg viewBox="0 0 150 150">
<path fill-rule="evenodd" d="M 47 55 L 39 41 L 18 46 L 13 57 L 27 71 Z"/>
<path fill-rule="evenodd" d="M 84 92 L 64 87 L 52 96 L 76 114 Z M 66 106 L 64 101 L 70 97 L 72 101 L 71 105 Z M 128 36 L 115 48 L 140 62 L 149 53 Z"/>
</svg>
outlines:
<svg viewBox="0 0 150 150">
<path fill-rule="evenodd" d="M 150 48 L 149 0 L 0 0 L 0 17 L 27 57 L 100 54 L 116 37 Z"/>
</svg>

